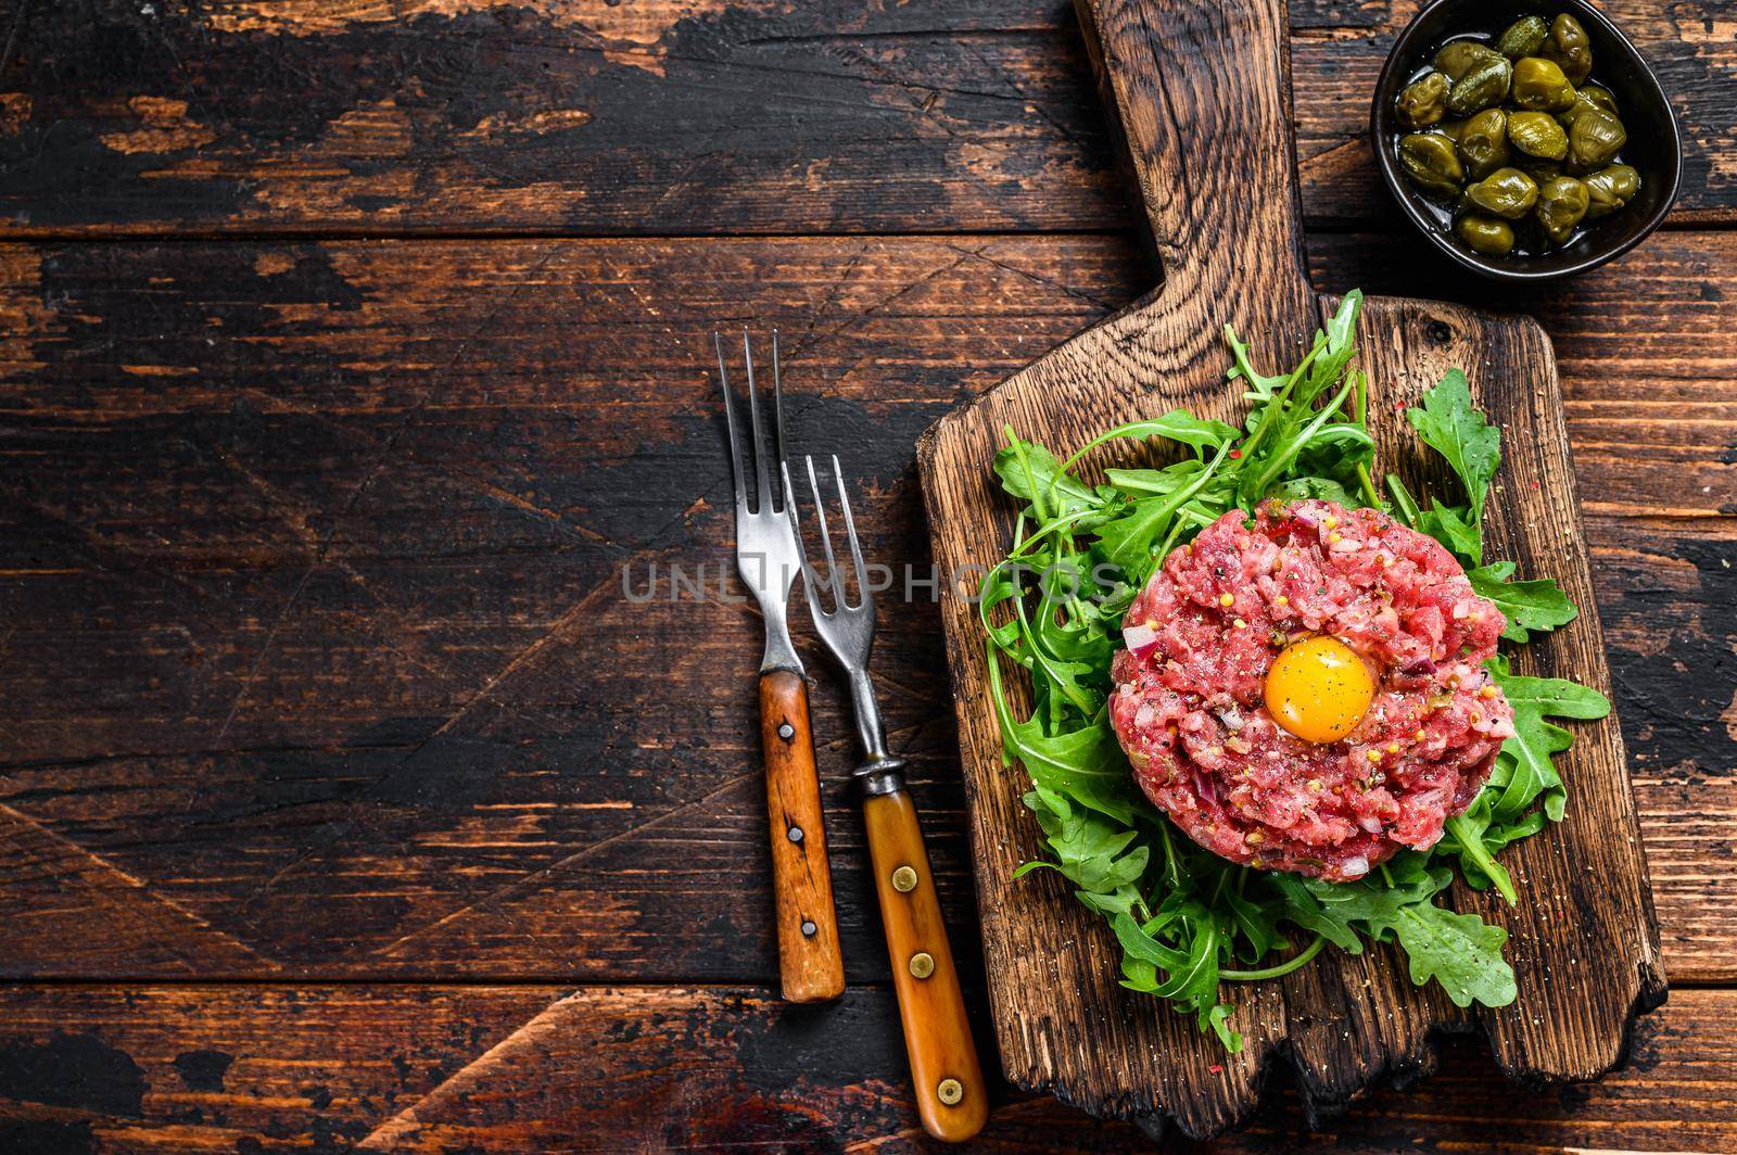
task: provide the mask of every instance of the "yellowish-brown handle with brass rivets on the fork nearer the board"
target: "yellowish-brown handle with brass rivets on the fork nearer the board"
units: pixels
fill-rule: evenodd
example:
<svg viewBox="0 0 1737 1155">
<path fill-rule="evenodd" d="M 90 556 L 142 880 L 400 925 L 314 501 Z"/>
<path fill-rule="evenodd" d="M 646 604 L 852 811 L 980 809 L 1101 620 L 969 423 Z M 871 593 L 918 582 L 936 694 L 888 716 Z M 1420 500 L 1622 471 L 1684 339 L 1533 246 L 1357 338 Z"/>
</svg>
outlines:
<svg viewBox="0 0 1737 1155">
<path fill-rule="evenodd" d="M 863 820 L 893 959 L 898 1018 L 905 1025 L 905 1051 L 917 1086 L 917 1115 L 936 1139 L 962 1143 L 988 1119 L 988 1087 L 971 1039 L 941 903 L 935 896 L 917 808 L 902 789 L 870 794 Z"/>
</svg>

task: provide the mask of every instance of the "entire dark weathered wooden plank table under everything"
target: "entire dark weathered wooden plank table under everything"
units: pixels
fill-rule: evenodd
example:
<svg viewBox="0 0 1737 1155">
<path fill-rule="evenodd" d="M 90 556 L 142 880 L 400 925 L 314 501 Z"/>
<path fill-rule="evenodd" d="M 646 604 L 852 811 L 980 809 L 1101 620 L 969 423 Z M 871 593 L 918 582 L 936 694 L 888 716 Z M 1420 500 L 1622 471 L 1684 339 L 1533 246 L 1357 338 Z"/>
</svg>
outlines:
<svg viewBox="0 0 1737 1155">
<path fill-rule="evenodd" d="M 1298 148 L 1324 288 L 1556 342 L 1671 1000 L 1600 1084 L 1449 1040 L 1223 1150 L 1737 1150 L 1737 21 L 1608 7 L 1687 179 L 1572 285 L 1459 280 L 1377 188 L 1410 3 L 1292 0 Z M 783 330 L 796 439 L 926 571 L 914 438 L 1152 280 L 1063 0 L 0 21 L 0 1152 L 919 1146 L 825 679 L 849 992 L 775 997 L 707 335 Z M 884 618 L 981 1014 L 938 615 Z M 1138 1143 L 1006 1089 L 983 1136 Z"/>
</svg>

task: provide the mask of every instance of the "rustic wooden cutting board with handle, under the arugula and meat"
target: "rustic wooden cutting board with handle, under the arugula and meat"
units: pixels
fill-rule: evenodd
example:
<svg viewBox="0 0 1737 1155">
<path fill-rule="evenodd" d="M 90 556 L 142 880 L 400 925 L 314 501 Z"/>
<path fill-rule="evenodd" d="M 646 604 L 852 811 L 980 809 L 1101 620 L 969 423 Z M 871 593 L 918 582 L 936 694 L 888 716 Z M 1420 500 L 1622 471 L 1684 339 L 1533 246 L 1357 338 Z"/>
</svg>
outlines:
<svg viewBox="0 0 1737 1155">
<path fill-rule="evenodd" d="M 924 434 L 917 460 L 943 573 L 971 573 L 1006 552 L 1013 509 L 990 472 L 1002 426 L 1067 455 L 1098 431 L 1171 406 L 1238 420 L 1225 382 L 1225 323 L 1252 342 L 1261 365 L 1287 368 L 1336 304 L 1313 292 L 1303 262 L 1284 2 L 1077 7 L 1126 135 L 1164 285 Z M 1391 243 L 1424 250 L 1412 236 Z M 1522 648 L 1515 669 L 1608 693 L 1549 339 L 1523 316 L 1370 297 L 1358 344 L 1383 467 L 1410 479 L 1428 471 L 1397 408 L 1449 366 L 1466 370 L 1503 429 L 1492 556 L 1513 558 L 1522 575 L 1556 578 L 1581 606 L 1572 625 Z M 1106 453 L 1094 462 L 1119 464 Z M 1001 762 L 983 634 L 957 587 L 943 596 L 943 620 L 995 1033 L 1016 1086 L 1152 1131 L 1169 1117 L 1190 1136 L 1211 1136 L 1249 1117 L 1273 1063 L 1296 1070 L 1304 1110 L 1322 1119 L 1377 1080 L 1430 1072 L 1428 1035 L 1438 1028 L 1483 1032 L 1516 1079 L 1593 1079 L 1622 1061 L 1635 1014 L 1664 1000 L 1647 863 L 1610 717 L 1577 724 L 1572 752 L 1558 759 L 1567 820 L 1503 858 L 1522 903 L 1452 891 L 1456 908 L 1508 927 L 1520 985 L 1513 1006 L 1461 1011 L 1435 988 L 1414 988 L 1390 948 L 1327 952 L 1284 980 L 1226 990 L 1245 1037 L 1240 1054 L 1226 1054 L 1192 1018 L 1117 985 L 1113 936 L 1058 875 L 1013 879 L 1040 851 L 1020 804 L 1027 776 Z"/>
</svg>

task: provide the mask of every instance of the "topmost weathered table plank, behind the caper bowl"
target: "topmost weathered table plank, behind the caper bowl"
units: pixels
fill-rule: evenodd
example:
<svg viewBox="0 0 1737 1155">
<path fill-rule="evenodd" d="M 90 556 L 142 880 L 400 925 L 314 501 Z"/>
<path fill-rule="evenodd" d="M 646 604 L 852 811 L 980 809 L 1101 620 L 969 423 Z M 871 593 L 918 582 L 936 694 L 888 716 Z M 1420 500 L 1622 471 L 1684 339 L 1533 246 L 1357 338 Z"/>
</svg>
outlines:
<svg viewBox="0 0 1737 1155">
<path fill-rule="evenodd" d="M 1734 219 L 1737 38 L 1720 5 L 1608 9 L 1683 120 L 1681 219 Z M 1362 137 L 1412 12 L 1291 5 L 1311 219 L 1398 228 Z M 12 234 L 1134 219 L 1065 0 L 78 0 L 30 5 L 0 73 Z"/>
</svg>

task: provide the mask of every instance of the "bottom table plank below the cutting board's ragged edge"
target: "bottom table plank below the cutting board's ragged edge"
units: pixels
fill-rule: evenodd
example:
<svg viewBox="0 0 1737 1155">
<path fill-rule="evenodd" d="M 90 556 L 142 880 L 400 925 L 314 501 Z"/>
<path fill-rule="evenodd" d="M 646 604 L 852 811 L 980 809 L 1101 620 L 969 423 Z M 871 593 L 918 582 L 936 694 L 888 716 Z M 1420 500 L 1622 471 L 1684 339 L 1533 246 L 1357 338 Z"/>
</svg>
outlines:
<svg viewBox="0 0 1737 1155">
<path fill-rule="evenodd" d="M 1249 1131 L 1179 1150 L 1728 1152 L 1734 1014 L 1734 992 L 1676 990 L 1626 1070 L 1546 1094 L 1452 1040 L 1435 1077 L 1332 1131 L 1273 1087 Z M 891 993 L 870 988 L 823 1009 L 764 988 L 0 988 L 0 1145 L 21 1152 L 919 1150 L 903 1072 Z M 1152 1141 L 997 1086 L 980 1148 Z"/>
</svg>

